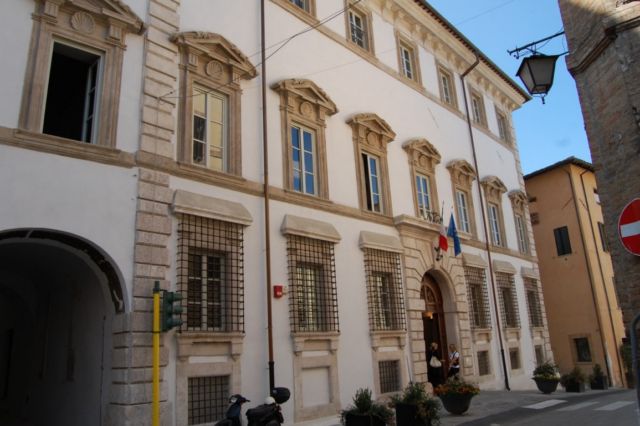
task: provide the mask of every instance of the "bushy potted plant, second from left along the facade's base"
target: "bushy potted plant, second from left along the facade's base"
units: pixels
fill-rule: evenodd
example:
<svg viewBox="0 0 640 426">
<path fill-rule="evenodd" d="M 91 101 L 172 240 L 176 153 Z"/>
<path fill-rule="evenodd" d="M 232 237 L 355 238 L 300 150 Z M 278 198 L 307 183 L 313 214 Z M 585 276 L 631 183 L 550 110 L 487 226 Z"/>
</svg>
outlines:
<svg viewBox="0 0 640 426">
<path fill-rule="evenodd" d="M 391 397 L 396 409 L 397 426 L 432 426 L 438 424 L 440 403 L 427 394 L 424 383 L 409 382 L 400 395 Z"/>
</svg>

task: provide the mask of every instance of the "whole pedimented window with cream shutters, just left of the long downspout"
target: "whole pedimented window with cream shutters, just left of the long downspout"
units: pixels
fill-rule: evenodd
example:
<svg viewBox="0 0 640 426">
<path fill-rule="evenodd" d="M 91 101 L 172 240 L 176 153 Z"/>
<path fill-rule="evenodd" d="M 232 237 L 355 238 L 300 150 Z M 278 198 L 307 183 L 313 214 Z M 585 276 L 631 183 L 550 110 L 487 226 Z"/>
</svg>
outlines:
<svg viewBox="0 0 640 426">
<path fill-rule="evenodd" d="M 241 175 L 240 81 L 255 68 L 220 34 L 190 31 L 172 41 L 180 48 L 179 160 Z"/>
</svg>

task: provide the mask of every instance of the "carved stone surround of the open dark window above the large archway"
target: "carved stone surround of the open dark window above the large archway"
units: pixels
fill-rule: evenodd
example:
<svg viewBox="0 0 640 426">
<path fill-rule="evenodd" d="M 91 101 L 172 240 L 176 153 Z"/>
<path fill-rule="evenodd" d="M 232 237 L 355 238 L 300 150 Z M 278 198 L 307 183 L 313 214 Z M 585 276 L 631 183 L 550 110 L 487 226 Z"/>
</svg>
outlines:
<svg viewBox="0 0 640 426">
<path fill-rule="evenodd" d="M 35 1 L 31 44 L 18 126 L 51 141 L 73 141 L 42 133 L 47 82 L 54 41 L 101 56 L 97 129 L 90 144 L 116 147 L 122 66 L 127 34 L 142 34 L 144 22 L 120 1 L 99 1 L 102 7 L 55 0 Z M 95 54 L 95 53 L 94 53 Z"/>
</svg>

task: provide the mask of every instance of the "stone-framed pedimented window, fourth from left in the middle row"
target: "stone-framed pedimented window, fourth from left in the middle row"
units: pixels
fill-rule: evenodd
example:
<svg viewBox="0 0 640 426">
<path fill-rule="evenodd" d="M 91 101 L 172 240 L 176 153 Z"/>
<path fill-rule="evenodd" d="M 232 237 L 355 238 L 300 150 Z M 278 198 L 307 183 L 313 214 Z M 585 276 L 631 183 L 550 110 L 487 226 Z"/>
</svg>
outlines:
<svg viewBox="0 0 640 426">
<path fill-rule="evenodd" d="M 360 208 L 391 215 L 387 144 L 396 134 L 376 114 L 357 114 L 347 122 L 353 130 Z"/>
</svg>

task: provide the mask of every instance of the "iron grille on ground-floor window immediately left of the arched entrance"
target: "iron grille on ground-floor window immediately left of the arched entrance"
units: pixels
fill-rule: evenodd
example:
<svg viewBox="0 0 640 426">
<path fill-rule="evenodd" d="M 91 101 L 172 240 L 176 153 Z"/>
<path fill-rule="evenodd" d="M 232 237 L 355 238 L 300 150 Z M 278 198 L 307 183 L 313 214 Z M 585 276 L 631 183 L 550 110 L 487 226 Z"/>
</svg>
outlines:
<svg viewBox="0 0 640 426">
<path fill-rule="evenodd" d="M 371 330 L 405 330 L 400 254 L 365 249 Z"/>
</svg>

